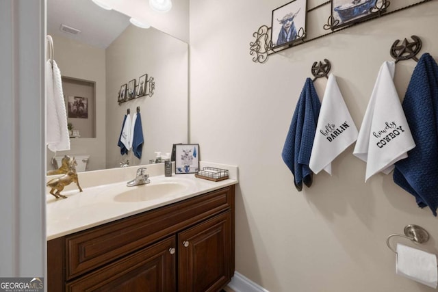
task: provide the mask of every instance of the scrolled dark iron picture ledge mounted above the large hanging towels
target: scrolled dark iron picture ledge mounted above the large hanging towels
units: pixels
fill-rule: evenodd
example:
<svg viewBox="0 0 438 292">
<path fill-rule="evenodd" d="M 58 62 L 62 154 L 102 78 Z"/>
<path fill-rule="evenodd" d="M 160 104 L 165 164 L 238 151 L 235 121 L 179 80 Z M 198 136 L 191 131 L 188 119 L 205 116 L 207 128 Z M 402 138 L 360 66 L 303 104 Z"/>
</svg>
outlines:
<svg viewBox="0 0 438 292">
<path fill-rule="evenodd" d="M 313 10 L 318 10 L 320 8 L 325 7 L 326 5 L 332 3 L 331 1 L 326 1 L 321 3 L 320 5 L 315 6 L 314 8 L 310 8 L 307 10 L 307 13 L 312 12 Z M 346 23 L 344 25 L 339 25 L 339 21 L 335 20 L 335 18 L 331 15 L 327 19 L 327 23 L 322 27 L 325 31 L 329 31 L 326 34 L 319 34 L 313 38 L 306 39 L 307 31 L 300 27 L 298 29 L 298 38 L 294 42 L 289 44 L 285 44 L 282 46 L 275 46 L 272 42 L 271 34 L 272 27 L 268 27 L 267 25 L 262 25 L 253 33 L 253 37 L 255 41 L 250 42 L 250 55 L 253 56 L 253 62 L 263 64 L 268 60 L 268 56 L 273 55 L 275 53 L 279 53 L 286 49 L 290 49 L 292 47 L 299 46 L 300 44 L 306 44 L 307 42 L 311 42 L 312 40 L 318 40 L 319 38 L 323 38 L 324 36 L 329 36 L 331 34 L 335 34 L 338 31 L 342 31 L 344 29 L 348 29 L 352 26 L 365 23 L 367 21 L 372 21 L 376 18 L 380 18 L 383 16 L 387 16 L 389 14 L 393 14 L 396 12 L 400 12 L 402 10 L 406 10 L 408 8 L 412 8 L 414 6 L 429 2 L 432 0 L 423 0 L 419 2 L 412 3 L 410 5 L 403 6 L 402 8 L 398 8 L 396 10 L 389 11 L 389 5 L 391 2 L 389 0 L 381 0 L 376 1 L 374 7 L 370 8 L 370 14 L 367 17 L 359 18 L 357 21 L 351 21 L 350 23 Z"/>
</svg>

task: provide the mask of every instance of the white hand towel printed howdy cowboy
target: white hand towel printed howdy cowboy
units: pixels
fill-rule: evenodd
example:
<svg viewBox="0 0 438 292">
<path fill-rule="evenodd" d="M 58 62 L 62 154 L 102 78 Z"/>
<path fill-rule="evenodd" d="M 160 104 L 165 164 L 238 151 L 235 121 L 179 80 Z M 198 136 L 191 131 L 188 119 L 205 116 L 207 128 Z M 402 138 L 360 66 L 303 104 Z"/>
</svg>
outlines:
<svg viewBox="0 0 438 292">
<path fill-rule="evenodd" d="M 365 182 L 377 172 L 389 174 L 415 147 L 394 85 L 395 68 L 394 62 L 382 64 L 353 152 L 367 163 Z"/>
</svg>

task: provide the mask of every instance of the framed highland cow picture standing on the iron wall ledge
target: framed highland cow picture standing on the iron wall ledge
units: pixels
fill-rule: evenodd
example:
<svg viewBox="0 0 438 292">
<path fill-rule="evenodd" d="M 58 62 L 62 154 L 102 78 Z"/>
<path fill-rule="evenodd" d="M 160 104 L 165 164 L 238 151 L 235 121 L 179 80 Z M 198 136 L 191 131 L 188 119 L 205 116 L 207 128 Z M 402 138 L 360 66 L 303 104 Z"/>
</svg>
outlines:
<svg viewBox="0 0 438 292">
<path fill-rule="evenodd" d="M 293 0 L 272 10 L 271 42 L 275 47 L 306 38 L 307 1 Z"/>
</svg>

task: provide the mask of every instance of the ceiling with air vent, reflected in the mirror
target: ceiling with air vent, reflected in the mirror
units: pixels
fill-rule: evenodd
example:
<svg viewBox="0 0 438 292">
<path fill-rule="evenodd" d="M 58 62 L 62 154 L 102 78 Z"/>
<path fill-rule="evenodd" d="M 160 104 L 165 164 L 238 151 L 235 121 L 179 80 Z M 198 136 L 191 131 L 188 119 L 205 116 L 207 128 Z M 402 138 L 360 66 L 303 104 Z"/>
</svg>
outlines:
<svg viewBox="0 0 438 292">
<path fill-rule="evenodd" d="M 81 32 L 68 34 L 60 30 L 62 24 Z M 47 34 L 106 49 L 128 25 L 128 16 L 115 10 L 103 10 L 91 0 L 47 0 Z"/>
</svg>

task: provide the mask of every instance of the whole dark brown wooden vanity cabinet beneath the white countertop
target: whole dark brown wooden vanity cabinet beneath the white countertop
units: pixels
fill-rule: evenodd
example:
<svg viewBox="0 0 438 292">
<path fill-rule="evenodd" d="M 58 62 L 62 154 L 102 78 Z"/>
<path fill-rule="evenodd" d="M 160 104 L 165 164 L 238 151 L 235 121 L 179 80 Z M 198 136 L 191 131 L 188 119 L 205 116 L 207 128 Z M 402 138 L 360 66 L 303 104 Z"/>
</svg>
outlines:
<svg viewBox="0 0 438 292">
<path fill-rule="evenodd" d="M 49 292 L 220 291 L 233 273 L 233 185 L 47 242 Z"/>
</svg>

